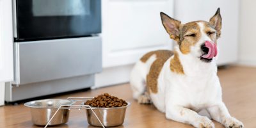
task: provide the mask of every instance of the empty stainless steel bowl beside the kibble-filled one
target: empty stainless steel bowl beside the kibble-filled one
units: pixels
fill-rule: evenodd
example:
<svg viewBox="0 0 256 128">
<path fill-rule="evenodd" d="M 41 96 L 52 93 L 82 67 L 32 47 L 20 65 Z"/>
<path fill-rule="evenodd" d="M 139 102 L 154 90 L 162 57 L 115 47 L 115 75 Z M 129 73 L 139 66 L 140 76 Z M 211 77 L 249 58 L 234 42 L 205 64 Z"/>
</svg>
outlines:
<svg viewBox="0 0 256 128">
<path fill-rule="evenodd" d="M 46 125 L 61 105 L 74 104 L 72 100 L 46 99 L 26 102 L 24 106 L 31 110 L 32 122 L 35 125 Z M 60 125 L 68 122 L 68 109 L 60 109 L 49 125 Z"/>
</svg>

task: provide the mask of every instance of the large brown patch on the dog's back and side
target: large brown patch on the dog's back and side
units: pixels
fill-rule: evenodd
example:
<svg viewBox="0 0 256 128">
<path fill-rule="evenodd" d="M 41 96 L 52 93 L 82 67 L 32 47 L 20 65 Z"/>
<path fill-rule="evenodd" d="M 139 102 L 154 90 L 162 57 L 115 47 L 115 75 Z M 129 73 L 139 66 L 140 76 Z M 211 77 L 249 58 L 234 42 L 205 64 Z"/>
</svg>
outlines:
<svg viewBox="0 0 256 128">
<path fill-rule="evenodd" d="M 156 60 L 150 66 L 150 70 L 147 75 L 147 86 L 152 93 L 157 93 L 158 76 L 161 72 L 161 69 L 163 68 L 164 63 L 173 55 L 173 52 L 168 50 L 148 52 L 141 58 L 141 61 L 145 63 L 153 54 L 156 54 Z"/>
</svg>

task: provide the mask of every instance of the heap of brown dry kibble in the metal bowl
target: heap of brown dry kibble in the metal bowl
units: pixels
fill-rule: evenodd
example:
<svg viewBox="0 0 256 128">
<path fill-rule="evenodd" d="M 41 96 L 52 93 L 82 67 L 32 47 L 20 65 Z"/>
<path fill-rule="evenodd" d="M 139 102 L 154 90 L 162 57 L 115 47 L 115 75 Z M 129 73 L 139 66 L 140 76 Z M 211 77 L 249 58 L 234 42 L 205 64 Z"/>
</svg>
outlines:
<svg viewBox="0 0 256 128">
<path fill-rule="evenodd" d="M 108 93 L 98 95 L 92 100 L 87 100 L 84 104 L 98 108 L 115 108 L 127 106 L 127 102 L 125 100 L 118 99 L 117 97 L 111 96 Z"/>
</svg>

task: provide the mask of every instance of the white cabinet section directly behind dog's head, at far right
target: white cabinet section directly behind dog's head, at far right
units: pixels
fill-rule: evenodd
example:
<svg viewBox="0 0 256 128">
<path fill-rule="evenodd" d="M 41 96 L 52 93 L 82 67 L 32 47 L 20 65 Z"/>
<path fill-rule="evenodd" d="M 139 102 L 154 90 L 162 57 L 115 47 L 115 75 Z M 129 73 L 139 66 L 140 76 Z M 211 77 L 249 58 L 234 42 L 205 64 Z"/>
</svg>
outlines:
<svg viewBox="0 0 256 128">
<path fill-rule="evenodd" d="M 239 0 L 176 0 L 175 19 L 182 23 L 192 20 L 207 20 L 220 7 L 222 17 L 221 37 L 218 40 L 220 56 L 218 65 L 237 61 Z"/>
</svg>

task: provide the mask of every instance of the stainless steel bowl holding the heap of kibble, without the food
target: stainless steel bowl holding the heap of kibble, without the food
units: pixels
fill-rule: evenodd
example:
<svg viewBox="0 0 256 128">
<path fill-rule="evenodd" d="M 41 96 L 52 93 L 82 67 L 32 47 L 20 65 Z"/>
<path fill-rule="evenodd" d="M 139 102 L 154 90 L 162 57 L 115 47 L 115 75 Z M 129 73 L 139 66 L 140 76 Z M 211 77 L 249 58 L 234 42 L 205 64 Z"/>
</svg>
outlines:
<svg viewBox="0 0 256 128">
<path fill-rule="evenodd" d="M 130 103 L 127 102 L 127 106 L 118 107 L 118 108 L 95 108 L 92 107 L 95 114 L 99 117 L 100 122 L 105 127 L 114 127 L 122 125 L 124 123 L 125 111 L 126 108 L 130 106 Z M 91 109 L 86 109 L 87 121 L 90 125 L 101 127 L 99 120 L 93 114 Z"/>
</svg>

